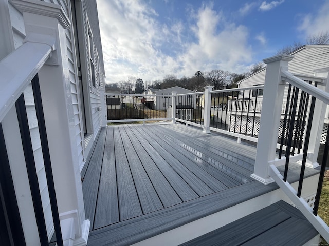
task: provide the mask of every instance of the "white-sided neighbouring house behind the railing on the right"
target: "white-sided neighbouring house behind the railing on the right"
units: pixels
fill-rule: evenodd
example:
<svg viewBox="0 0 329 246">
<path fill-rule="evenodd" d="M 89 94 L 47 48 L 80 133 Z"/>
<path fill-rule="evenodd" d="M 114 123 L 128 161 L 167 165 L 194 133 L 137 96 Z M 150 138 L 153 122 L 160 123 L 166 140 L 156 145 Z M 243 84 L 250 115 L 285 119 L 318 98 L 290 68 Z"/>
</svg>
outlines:
<svg viewBox="0 0 329 246">
<path fill-rule="evenodd" d="M 293 74 L 303 74 L 306 76 L 319 76 L 319 77 L 327 77 L 327 72 L 329 71 L 329 45 L 304 45 L 300 47 L 299 49 L 293 51 L 290 53 L 290 55 L 294 56 L 294 59 L 289 62 L 288 70 L 289 72 Z M 247 87 L 253 87 L 253 86 L 261 86 L 264 85 L 265 81 L 265 73 L 266 73 L 266 67 L 262 68 L 261 70 L 251 74 L 250 76 L 240 80 L 237 84 L 239 85 L 239 88 L 247 88 Z M 287 94 L 288 94 L 288 88 L 285 89 L 284 93 L 284 105 L 287 100 Z M 263 101 L 263 89 L 258 90 L 252 90 L 250 92 L 250 98 L 249 93 L 245 93 L 245 98 L 250 99 L 248 101 L 252 111 L 254 107 L 256 108 L 256 118 L 255 118 L 255 135 L 258 135 L 258 129 L 260 124 L 260 113 L 262 109 L 262 101 Z M 257 104 L 255 104 L 255 98 L 257 96 Z M 242 94 L 239 95 L 240 101 L 232 102 L 232 107 L 235 109 L 235 107 L 238 108 L 238 111 L 240 108 L 242 108 Z M 246 105 L 246 104 L 245 104 Z M 245 106 L 246 107 L 246 106 Z M 329 116 L 329 110 L 327 110 L 325 114 L 325 125 L 324 129 L 328 127 L 328 116 Z M 241 117 L 241 116 L 238 116 Z M 238 118 L 237 122 L 242 122 L 242 126 L 244 127 L 247 122 L 247 116 L 244 114 L 242 116 L 242 120 Z M 284 108 L 282 109 L 282 121 L 284 117 Z M 233 120 L 235 121 L 235 118 L 233 117 Z M 252 124 L 251 124 L 252 125 Z M 249 126 L 251 126 L 249 124 Z M 282 124 L 281 124 L 282 125 Z M 322 140 L 322 143 L 324 144 L 325 139 Z"/>
</svg>

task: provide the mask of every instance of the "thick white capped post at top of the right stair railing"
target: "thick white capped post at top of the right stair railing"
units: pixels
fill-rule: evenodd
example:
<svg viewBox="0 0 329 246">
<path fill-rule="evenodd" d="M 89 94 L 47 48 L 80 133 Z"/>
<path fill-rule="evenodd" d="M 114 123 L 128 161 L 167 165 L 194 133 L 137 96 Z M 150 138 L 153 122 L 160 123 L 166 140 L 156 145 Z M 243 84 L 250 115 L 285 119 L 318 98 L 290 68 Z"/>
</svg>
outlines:
<svg viewBox="0 0 329 246">
<path fill-rule="evenodd" d="M 254 172 L 251 177 L 264 183 L 271 183 L 269 177 L 269 162 L 275 159 L 280 116 L 282 110 L 284 81 L 281 80 L 281 71 L 288 70 L 288 62 L 293 59 L 290 55 L 278 55 L 264 59 L 267 64 L 262 115 L 258 136 L 257 154 Z"/>
</svg>

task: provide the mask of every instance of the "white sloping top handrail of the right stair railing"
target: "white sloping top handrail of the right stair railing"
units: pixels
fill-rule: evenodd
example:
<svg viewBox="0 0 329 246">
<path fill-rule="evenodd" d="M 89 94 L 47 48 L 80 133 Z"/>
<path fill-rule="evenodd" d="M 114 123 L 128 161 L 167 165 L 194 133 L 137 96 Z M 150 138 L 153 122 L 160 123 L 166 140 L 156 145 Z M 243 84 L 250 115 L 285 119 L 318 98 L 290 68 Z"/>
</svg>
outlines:
<svg viewBox="0 0 329 246">
<path fill-rule="evenodd" d="M 317 99 L 323 101 L 325 104 L 329 104 L 329 93 L 320 90 L 319 88 L 306 83 L 304 80 L 294 76 L 294 74 L 288 71 L 281 72 L 281 78 L 284 82 L 287 82 L 299 89 L 305 91 L 306 93 L 316 97 Z"/>
</svg>

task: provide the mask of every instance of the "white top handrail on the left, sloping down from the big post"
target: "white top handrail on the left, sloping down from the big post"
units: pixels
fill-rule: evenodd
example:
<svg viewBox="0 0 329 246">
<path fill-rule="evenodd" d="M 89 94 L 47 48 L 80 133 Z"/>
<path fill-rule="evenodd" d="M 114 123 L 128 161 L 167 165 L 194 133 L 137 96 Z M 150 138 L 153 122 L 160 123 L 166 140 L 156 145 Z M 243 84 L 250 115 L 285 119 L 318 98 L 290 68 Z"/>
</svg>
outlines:
<svg viewBox="0 0 329 246">
<path fill-rule="evenodd" d="M 27 42 L 0 61 L 0 121 L 44 65 L 51 51 L 52 47 L 47 44 Z"/>
</svg>

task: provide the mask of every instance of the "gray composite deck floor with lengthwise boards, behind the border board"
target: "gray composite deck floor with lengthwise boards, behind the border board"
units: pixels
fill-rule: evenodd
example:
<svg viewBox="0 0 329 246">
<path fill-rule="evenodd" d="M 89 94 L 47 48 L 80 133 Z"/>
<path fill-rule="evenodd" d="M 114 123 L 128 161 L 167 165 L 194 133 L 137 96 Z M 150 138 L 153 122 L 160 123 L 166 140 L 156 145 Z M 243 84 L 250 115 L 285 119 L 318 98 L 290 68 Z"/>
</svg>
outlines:
<svg viewBox="0 0 329 246">
<path fill-rule="evenodd" d="M 103 128 L 82 183 L 91 229 L 250 182 L 252 153 L 181 125 Z"/>
</svg>

